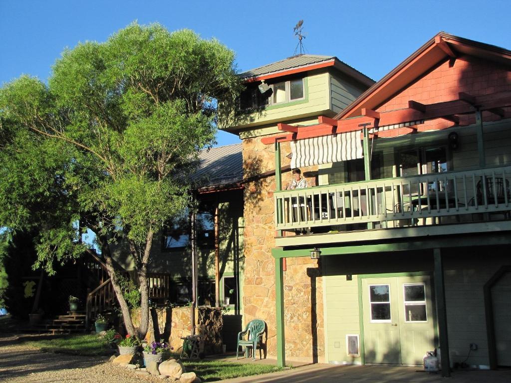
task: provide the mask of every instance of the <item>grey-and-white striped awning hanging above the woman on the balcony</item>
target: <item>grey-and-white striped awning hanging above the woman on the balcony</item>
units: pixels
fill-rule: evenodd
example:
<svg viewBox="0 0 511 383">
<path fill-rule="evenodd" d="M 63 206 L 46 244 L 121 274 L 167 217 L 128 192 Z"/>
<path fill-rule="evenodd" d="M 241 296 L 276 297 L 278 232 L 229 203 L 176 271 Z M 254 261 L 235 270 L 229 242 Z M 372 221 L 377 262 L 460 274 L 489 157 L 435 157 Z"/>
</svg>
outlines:
<svg viewBox="0 0 511 383">
<path fill-rule="evenodd" d="M 291 167 L 363 158 L 361 130 L 291 141 Z"/>
</svg>

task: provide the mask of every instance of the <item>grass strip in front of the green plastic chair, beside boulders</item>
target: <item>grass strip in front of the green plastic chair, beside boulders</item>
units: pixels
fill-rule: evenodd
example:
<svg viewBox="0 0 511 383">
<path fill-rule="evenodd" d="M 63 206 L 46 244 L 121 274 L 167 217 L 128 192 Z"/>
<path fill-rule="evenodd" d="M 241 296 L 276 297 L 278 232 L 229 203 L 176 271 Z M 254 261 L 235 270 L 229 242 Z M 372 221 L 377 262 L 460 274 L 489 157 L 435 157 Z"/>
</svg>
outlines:
<svg viewBox="0 0 511 383">
<path fill-rule="evenodd" d="M 282 371 L 280 367 L 225 361 L 183 361 L 187 371 L 193 371 L 202 381 L 216 381 L 240 376 L 267 374 Z"/>
</svg>

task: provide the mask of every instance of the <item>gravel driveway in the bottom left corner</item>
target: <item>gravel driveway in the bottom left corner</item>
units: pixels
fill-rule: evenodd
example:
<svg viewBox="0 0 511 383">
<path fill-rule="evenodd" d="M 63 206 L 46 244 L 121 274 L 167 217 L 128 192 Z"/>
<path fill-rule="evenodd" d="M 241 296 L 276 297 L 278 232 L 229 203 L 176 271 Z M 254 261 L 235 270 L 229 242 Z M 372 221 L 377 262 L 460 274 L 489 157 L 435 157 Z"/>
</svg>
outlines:
<svg viewBox="0 0 511 383">
<path fill-rule="evenodd" d="M 156 376 L 137 376 L 132 370 L 106 362 L 105 357 L 77 356 L 20 345 L 17 337 L 0 338 L 0 381 L 125 383 L 162 382 Z"/>
</svg>

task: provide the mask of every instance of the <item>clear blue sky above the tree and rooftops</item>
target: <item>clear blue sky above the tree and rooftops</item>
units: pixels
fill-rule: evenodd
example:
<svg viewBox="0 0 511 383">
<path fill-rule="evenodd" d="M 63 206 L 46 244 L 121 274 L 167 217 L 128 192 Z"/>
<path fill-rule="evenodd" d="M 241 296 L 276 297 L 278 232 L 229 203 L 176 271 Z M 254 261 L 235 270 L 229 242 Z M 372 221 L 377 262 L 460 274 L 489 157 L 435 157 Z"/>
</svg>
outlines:
<svg viewBox="0 0 511 383">
<path fill-rule="evenodd" d="M 439 31 L 511 49 L 509 9 L 508 0 L 0 0 L 0 84 L 21 74 L 46 80 L 65 47 L 104 41 L 133 20 L 215 37 L 243 71 L 292 56 L 293 27 L 304 19 L 307 53 L 335 55 L 379 80 Z"/>
</svg>

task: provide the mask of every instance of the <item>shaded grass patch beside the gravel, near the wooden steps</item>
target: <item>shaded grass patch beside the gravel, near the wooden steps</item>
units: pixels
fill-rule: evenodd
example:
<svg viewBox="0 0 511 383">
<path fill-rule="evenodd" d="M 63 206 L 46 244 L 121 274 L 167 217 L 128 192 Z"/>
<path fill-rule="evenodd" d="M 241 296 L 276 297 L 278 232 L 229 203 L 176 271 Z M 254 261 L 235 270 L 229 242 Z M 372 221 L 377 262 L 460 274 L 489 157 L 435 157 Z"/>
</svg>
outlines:
<svg viewBox="0 0 511 383">
<path fill-rule="evenodd" d="M 110 351 L 108 343 L 98 339 L 97 335 L 69 335 L 35 340 L 21 339 L 21 342 L 39 349 L 77 355 L 104 355 Z"/>
</svg>

